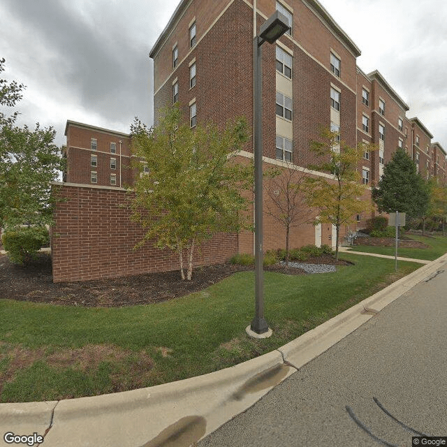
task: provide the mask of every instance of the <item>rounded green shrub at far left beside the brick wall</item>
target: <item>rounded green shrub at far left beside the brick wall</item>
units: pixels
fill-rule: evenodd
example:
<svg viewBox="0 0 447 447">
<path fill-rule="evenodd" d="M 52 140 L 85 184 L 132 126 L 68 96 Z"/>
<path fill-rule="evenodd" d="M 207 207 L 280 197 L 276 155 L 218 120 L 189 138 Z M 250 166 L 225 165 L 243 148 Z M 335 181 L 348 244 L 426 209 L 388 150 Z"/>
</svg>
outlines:
<svg viewBox="0 0 447 447">
<path fill-rule="evenodd" d="M 22 265 L 37 257 L 38 250 L 50 242 L 50 235 L 45 227 L 18 228 L 6 230 L 1 239 L 10 261 Z"/>
</svg>

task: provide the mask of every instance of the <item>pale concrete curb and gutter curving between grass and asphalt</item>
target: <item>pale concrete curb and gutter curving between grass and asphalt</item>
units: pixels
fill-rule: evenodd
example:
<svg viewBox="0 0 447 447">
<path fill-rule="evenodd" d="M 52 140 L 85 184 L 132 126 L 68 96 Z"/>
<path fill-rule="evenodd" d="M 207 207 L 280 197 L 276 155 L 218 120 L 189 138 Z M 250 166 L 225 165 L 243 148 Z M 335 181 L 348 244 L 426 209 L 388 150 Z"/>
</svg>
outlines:
<svg viewBox="0 0 447 447">
<path fill-rule="evenodd" d="M 427 277 L 447 254 L 281 348 L 240 365 L 184 381 L 112 395 L 0 404 L 3 434 L 44 436 L 44 447 L 188 447 L 246 411 Z M 303 444 L 305 445 L 305 444 Z"/>
</svg>

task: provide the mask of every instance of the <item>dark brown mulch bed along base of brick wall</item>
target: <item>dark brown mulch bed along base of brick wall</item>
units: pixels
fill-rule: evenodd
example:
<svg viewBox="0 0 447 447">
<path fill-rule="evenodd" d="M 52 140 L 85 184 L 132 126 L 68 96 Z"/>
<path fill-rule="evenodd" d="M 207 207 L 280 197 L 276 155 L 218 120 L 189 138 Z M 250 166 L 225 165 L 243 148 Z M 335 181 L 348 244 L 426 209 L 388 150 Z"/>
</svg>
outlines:
<svg viewBox="0 0 447 447">
<path fill-rule="evenodd" d="M 330 255 L 311 258 L 306 263 L 348 265 Z M 182 281 L 179 271 L 139 274 L 94 281 L 52 282 L 51 258 L 39 254 L 36 261 L 20 266 L 0 255 L 0 298 L 84 307 L 116 307 L 149 304 L 201 291 L 235 272 L 252 267 L 229 263 L 195 268 L 191 281 Z M 264 270 L 284 274 L 306 274 L 298 268 L 272 265 Z"/>
</svg>

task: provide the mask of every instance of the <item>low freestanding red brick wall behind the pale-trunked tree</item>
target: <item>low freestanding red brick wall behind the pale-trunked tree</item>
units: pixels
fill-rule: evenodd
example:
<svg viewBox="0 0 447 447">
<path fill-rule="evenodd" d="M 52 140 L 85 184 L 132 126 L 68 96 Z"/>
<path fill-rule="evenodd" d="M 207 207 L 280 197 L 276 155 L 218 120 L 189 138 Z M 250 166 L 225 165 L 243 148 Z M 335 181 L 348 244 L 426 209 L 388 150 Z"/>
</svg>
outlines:
<svg viewBox="0 0 447 447">
<path fill-rule="evenodd" d="M 129 220 L 125 191 L 88 186 L 60 187 L 52 237 L 53 281 L 85 281 L 178 270 L 178 256 L 147 242 L 133 250 L 144 234 Z M 124 204 L 124 206 L 121 206 Z M 227 261 L 237 252 L 237 235 L 218 234 L 196 250 L 194 265 Z"/>
</svg>

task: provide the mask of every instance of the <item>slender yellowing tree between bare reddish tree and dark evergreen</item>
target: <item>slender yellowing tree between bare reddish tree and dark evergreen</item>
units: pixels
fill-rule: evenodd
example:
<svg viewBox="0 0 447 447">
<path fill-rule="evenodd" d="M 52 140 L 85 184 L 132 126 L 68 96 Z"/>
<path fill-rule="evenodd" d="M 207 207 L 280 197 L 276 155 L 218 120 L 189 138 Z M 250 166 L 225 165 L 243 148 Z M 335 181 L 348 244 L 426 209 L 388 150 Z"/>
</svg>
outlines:
<svg viewBox="0 0 447 447">
<path fill-rule="evenodd" d="M 336 228 L 335 258 L 338 259 L 340 227 L 353 221 L 356 214 L 372 210 L 371 203 L 362 200 L 367 184 L 360 184 L 358 164 L 365 149 L 374 150 L 372 145 L 349 147 L 337 141 L 337 133 L 323 129 L 321 140 L 311 143 L 311 151 L 320 156 L 320 164 L 311 165 L 314 170 L 331 173 L 326 177 L 308 177 L 306 180 L 307 203 L 319 210 L 315 223 L 332 223 Z"/>
</svg>

